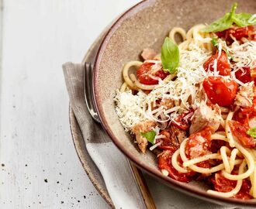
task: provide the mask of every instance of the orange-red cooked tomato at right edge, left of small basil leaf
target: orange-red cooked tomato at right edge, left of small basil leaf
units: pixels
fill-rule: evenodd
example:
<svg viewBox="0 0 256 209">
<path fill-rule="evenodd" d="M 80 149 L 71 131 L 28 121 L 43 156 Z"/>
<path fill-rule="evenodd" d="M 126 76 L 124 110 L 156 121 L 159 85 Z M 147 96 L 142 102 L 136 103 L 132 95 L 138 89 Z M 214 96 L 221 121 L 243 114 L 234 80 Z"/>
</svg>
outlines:
<svg viewBox="0 0 256 209">
<path fill-rule="evenodd" d="M 250 135 L 247 135 L 247 130 L 249 129 L 247 125 L 241 124 L 236 121 L 229 121 L 230 129 L 233 135 L 236 136 L 237 140 L 247 148 L 254 148 L 256 146 L 256 141 Z"/>
</svg>

